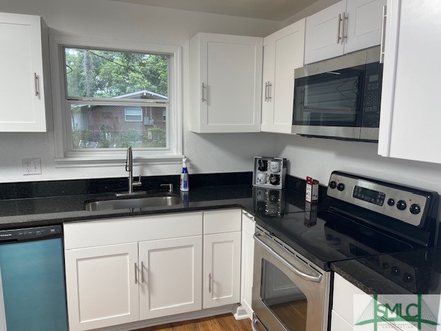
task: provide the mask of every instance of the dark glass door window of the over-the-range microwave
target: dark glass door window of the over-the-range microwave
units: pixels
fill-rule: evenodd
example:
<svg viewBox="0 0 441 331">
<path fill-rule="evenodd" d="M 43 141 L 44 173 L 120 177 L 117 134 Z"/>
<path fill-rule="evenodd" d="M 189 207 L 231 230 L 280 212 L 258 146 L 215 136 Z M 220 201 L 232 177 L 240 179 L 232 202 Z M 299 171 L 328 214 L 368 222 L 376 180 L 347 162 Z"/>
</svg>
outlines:
<svg viewBox="0 0 441 331">
<path fill-rule="evenodd" d="M 296 79 L 294 125 L 360 126 L 365 66 Z"/>
</svg>

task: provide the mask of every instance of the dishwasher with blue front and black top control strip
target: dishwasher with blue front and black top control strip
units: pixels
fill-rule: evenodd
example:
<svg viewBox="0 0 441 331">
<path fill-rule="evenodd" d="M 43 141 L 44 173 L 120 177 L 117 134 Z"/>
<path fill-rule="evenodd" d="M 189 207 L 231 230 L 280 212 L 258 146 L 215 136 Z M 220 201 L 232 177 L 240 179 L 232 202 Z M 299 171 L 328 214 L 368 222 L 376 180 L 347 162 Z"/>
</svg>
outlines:
<svg viewBox="0 0 441 331">
<path fill-rule="evenodd" d="M 61 225 L 0 231 L 0 330 L 68 330 Z"/>
</svg>

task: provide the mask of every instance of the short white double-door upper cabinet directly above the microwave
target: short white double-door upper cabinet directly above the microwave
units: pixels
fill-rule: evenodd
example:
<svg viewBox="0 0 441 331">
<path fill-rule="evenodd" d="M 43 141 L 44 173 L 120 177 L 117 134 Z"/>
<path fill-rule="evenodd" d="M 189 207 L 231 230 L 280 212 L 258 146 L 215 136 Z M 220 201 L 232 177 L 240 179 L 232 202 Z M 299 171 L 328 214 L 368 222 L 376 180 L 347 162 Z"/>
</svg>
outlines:
<svg viewBox="0 0 441 331">
<path fill-rule="evenodd" d="M 307 17 L 305 64 L 380 45 L 386 0 L 343 0 Z"/>
</svg>

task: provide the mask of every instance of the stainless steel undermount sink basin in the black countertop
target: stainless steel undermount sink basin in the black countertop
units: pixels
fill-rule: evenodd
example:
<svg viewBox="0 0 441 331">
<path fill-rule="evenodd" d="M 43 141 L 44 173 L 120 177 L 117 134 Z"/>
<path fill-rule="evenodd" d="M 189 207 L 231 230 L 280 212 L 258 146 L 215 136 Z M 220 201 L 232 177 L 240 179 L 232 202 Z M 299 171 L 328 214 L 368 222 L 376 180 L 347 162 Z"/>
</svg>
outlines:
<svg viewBox="0 0 441 331">
<path fill-rule="evenodd" d="M 115 210 L 115 209 L 139 209 L 148 207 L 164 207 L 178 205 L 181 198 L 175 194 L 152 194 L 146 197 L 128 199 L 106 199 L 97 201 L 85 201 L 84 209 L 88 211 Z"/>
</svg>

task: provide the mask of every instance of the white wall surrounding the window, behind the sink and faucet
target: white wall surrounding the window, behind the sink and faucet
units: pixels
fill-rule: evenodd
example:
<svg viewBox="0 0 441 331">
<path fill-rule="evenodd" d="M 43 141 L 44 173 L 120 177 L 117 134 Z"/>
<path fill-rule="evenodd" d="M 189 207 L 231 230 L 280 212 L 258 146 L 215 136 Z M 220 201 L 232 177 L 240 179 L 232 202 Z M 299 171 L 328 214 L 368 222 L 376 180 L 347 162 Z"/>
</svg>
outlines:
<svg viewBox="0 0 441 331">
<path fill-rule="evenodd" d="M 280 28 L 280 22 L 218 14 L 170 10 L 108 0 L 3 0 L 1 12 L 41 15 L 51 34 L 72 35 L 145 43 L 163 43 L 183 48 L 184 154 L 189 171 L 251 171 L 253 157 L 278 154 L 272 134 L 194 134 L 189 132 L 189 39 L 197 32 L 243 34 L 265 37 Z M 1 102 L 1 101 L 0 101 Z M 0 103 L 1 105 L 1 103 Z M 54 134 L 0 133 L 0 182 L 123 177 L 119 167 L 55 168 Z M 272 153 L 272 154 L 271 154 Z M 39 157 L 43 174 L 23 176 L 21 159 Z M 134 153 L 136 158 L 136 152 Z M 135 167 L 134 174 L 178 174 L 181 165 Z"/>
</svg>

